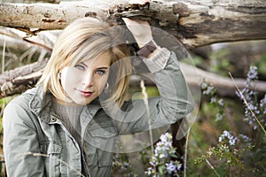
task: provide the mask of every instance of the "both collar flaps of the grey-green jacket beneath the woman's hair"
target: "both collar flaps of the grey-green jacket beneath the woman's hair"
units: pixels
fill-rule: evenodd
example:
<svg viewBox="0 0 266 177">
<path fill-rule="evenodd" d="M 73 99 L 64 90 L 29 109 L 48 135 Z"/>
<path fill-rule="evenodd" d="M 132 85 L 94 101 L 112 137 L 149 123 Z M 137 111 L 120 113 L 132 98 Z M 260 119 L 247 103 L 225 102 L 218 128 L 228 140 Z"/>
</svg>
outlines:
<svg viewBox="0 0 266 177">
<path fill-rule="evenodd" d="M 28 90 L 27 93 L 33 95 L 29 102 L 29 109 L 40 119 L 49 123 L 51 119 L 51 92 L 44 92 L 43 87 L 40 85 L 35 89 Z M 99 99 L 96 98 L 90 104 L 87 104 L 86 107 L 87 109 L 84 109 L 84 111 L 94 117 L 98 110 L 101 109 Z"/>
</svg>

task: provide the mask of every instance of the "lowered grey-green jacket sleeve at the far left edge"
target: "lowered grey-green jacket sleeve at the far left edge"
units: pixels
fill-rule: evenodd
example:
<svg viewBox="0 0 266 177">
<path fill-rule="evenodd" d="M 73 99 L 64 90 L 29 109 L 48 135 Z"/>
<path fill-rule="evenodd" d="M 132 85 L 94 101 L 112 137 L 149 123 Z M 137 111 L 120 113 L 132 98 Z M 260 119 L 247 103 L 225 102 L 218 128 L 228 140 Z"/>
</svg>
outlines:
<svg viewBox="0 0 266 177">
<path fill-rule="evenodd" d="M 35 124 L 27 108 L 8 104 L 4 109 L 4 159 L 8 176 L 45 176 Z"/>
</svg>

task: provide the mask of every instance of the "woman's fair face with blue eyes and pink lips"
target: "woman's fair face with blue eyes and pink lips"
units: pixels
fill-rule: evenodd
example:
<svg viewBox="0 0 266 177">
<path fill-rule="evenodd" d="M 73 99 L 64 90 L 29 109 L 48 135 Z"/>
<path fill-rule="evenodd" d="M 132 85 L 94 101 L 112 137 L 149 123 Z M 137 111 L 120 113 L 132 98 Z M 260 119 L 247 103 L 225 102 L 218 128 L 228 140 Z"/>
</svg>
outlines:
<svg viewBox="0 0 266 177">
<path fill-rule="evenodd" d="M 106 87 L 111 56 L 105 52 L 98 58 L 87 59 L 61 72 L 61 84 L 74 104 L 90 104 Z M 65 103 L 66 104 L 66 103 Z"/>
</svg>

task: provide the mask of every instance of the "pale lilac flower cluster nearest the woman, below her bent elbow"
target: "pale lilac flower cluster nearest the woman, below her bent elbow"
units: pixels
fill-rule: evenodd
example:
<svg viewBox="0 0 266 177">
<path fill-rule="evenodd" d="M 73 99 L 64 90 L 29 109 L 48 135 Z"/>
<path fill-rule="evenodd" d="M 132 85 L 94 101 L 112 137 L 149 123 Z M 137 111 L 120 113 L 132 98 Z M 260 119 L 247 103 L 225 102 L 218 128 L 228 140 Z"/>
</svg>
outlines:
<svg viewBox="0 0 266 177">
<path fill-rule="evenodd" d="M 150 159 L 151 167 L 145 172 L 149 176 L 160 177 L 166 174 L 178 176 L 182 164 L 179 161 L 170 160 L 170 157 L 176 157 L 176 149 L 172 145 L 172 135 L 166 133 L 160 135 L 160 142 L 157 142 L 154 149 L 154 154 Z"/>
</svg>

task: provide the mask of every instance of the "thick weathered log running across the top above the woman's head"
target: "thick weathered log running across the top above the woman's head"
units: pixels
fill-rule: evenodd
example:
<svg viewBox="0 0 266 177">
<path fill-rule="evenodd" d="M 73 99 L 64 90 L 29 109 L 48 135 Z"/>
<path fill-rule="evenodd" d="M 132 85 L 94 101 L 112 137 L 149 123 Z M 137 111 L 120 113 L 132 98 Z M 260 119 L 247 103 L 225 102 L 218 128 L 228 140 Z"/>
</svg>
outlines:
<svg viewBox="0 0 266 177">
<path fill-rule="evenodd" d="M 149 6 L 129 5 L 126 0 L 98 0 L 61 4 L 0 4 L 0 26 L 62 29 L 74 19 L 126 16 L 148 19 L 175 35 L 186 48 L 215 42 L 266 39 L 264 0 L 167 0 Z"/>
</svg>

